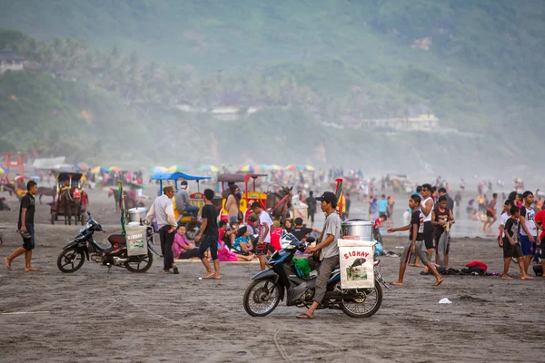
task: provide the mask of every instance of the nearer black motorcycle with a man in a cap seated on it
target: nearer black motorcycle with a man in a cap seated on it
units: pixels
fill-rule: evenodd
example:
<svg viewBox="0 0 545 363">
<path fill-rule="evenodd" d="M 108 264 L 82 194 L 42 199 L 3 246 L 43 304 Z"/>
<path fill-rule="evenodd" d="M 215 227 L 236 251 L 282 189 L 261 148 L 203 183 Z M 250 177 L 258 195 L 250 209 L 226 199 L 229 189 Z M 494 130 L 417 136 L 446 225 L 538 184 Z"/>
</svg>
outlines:
<svg viewBox="0 0 545 363">
<path fill-rule="evenodd" d="M 307 240 L 312 243 L 311 237 Z M 253 276 L 252 283 L 244 293 L 244 309 L 253 317 L 264 317 L 276 309 L 280 300 L 287 306 L 309 308 L 314 297 L 315 277 L 301 278 L 293 267 L 293 256 L 297 250 L 304 251 L 307 244 L 285 234 L 281 238 L 282 250 L 274 252 L 269 260 L 271 268 Z M 342 309 L 352 318 L 369 318 L 382 303 L 381 284 L 390 289 L 381 276 L 380 260 L 374 262 L 374 288 L 342 289 L 341 270 L 336 269 L 327 281 L 327 291 L 318 309 Z"/>
</svg>

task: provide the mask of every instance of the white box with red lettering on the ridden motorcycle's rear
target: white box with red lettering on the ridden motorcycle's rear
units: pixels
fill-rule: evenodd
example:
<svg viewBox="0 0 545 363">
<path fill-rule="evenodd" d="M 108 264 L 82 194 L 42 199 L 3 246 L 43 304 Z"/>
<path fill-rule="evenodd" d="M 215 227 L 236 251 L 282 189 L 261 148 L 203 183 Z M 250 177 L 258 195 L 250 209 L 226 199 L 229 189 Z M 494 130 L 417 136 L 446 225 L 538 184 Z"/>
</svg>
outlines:
<svg viewBox="0 0 545 363">
<path fill-rule="evenodd" d="M 339 240 L 342 289 L 374 287 L 373 250 L 371 240 Z"/>
</svg>

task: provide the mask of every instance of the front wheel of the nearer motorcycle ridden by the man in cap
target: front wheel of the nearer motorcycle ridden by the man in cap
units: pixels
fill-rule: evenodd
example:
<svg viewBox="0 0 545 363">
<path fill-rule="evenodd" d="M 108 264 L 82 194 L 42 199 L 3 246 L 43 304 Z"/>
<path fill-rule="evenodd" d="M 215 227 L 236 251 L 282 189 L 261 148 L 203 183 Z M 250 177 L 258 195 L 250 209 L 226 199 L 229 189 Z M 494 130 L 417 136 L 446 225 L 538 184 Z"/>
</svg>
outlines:
<svg viewBox="0 0 545 363">
<path fill-rule="evenodd" d="M 244 292 L 244 310 L 253 317 L 264 317 L 280 302 L 281 287 L 272 280 L 254 280 Z"/>
</svg>

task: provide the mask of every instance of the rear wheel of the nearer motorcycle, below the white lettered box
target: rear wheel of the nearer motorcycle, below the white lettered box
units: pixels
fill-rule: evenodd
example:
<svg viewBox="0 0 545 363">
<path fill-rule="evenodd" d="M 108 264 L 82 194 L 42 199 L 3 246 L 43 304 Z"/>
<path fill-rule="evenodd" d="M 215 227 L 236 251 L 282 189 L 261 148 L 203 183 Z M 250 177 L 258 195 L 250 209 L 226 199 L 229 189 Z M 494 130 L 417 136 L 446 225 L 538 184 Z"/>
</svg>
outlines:
<svg viewBox="0 0 545 363">
<path fill-rule="evenodd" d="M 372 317 L 382 304 L 382 288 L 375 281 L 372 289 L 353 289 L 342 299 L 342 312 L 351 318 Z"/>
</svg>

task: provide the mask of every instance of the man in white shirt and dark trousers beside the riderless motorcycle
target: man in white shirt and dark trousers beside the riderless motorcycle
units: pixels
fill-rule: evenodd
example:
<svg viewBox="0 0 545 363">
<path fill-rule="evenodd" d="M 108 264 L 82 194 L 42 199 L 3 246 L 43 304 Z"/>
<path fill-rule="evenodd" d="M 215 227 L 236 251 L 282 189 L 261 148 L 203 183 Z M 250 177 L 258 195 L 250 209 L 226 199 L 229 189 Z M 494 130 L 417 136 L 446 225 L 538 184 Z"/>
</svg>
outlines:
<svg viewBox="0 0 545 363">
<path fill-rule="evenodd" d="M 145 216 L 146 223 L 151 222 L 154 217 L 157 221 L 163 254 L 163 273 L 171 273 L 174 264 L 173 241 L 177 224 L 174 219 L 173 196 L 174 187 L 172 185 L 164 187 L 163 195 L 155 199 L 152 208 Z M 174 273 L 176 271 L 177 269 L 174 269 Z"/>
</svg>

